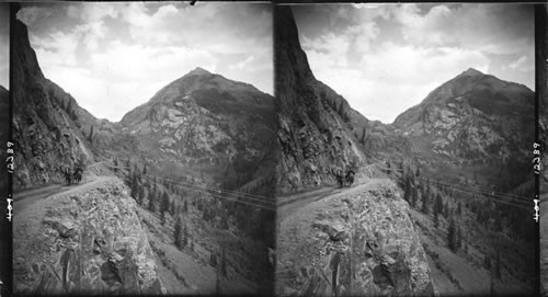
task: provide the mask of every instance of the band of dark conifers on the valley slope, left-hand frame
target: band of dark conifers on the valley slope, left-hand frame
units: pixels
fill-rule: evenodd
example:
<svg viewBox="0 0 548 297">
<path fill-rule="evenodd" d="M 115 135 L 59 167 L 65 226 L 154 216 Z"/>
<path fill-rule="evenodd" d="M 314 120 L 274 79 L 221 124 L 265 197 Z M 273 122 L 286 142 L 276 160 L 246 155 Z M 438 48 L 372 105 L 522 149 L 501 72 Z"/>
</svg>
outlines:
<svg viewBox="0 0 548 297">
<path fill-rule="evenodd" d="M 147 172 L 146 165 L 129 168 L 125 181 L 130 196 L 142 208 L 158 215 L 162 225 L 180 225 L 174 228 L 175 242 L 180 243 L 178 247 L 192 244 L 189 239 L 194 232 L 185 225 L 191 212 L 194 218 L 217 229 L 232 227 L 251 239 L 274 244 L 274 210 L 242 204 L 238 202 L 237 194 L 210 189 L 197 178 L 162 178 Z"/>
</svg>

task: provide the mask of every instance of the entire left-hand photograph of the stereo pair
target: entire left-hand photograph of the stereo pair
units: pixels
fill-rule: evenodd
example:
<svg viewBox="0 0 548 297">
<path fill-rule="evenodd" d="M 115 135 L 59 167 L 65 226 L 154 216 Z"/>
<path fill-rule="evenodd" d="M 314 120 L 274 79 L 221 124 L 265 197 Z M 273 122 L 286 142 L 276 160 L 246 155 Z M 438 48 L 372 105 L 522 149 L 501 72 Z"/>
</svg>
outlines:
<svg viewBox="0 0 548 297">
<path fill-rule="evenodd" d="M 272 5 L 12 9 L 14 294 L 270 294 Z"/>
</svg>

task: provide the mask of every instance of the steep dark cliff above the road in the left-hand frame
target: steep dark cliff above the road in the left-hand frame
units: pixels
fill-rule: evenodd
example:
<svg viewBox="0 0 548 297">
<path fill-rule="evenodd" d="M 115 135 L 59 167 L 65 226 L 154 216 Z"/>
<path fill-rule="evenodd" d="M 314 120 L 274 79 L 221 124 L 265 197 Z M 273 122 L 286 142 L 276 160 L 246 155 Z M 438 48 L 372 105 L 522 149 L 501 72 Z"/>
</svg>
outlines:
<svg viewBox="0 0 548 297">
<path fill-rule="evenodd" d="M 93 160 L 87 132 L 96 119 L 44 77 L 31 48 L 26 26 L 15 20 L 11 68 L 15 190 L 61 179 L 64 167 Z"/>
</svg>

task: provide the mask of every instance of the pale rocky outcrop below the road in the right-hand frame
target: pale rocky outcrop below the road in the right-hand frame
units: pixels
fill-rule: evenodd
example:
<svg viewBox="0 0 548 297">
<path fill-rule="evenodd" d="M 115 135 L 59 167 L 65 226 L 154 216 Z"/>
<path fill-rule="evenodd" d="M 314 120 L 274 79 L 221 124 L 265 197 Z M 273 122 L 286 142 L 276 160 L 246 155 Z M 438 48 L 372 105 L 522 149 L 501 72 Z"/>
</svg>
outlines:
<svg viewBox="0 0 548 297">
<path fill-rule="evenodd" d="M 292 243 L 279 243 L 288 249 L 278 270 L 293 274 L 292 281 L 278 284 L 278 295 L 434 295 L 409 205 L 392 182 L 377 182 L 357 193 L 333 196 L 307 213 L 310 228 L 296 227 L 297 220 L 304 222 L 297 218 L 284 222 L 289 233 L 295 228 L 302 235 L 292 235 L 300 238 L 296 250 L 289 248 Z"/>
</svg>

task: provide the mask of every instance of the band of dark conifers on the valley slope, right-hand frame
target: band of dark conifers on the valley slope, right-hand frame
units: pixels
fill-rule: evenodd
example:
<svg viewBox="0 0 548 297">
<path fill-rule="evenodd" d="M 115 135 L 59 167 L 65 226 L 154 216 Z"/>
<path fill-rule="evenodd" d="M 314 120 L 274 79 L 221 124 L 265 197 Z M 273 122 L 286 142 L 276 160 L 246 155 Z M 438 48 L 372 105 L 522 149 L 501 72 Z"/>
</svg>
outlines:
<svg viewBox="0 0 548 297">
<path fill-rule="evenodd" d="M 513 235 L 517 240 L 532 238 L 530 231 L 534 228 L 527 226 L 533 219 L 523 219 L 530 214 L 525 214 L 527 212 L 512 205 L 496 203 L 494 199 L 501 197 L 494 194 L 464 193 L 460 190 L 464 187 L 458 184 L 455 186 L 447 185 L 449 182 L 441 184 L 423 176 L 420 168 L 411 169 L 402 163 L 385 164 L 385 173 L 396 178 L 403 189 L 403 198 L 413 209 L 430 216 L 434 227 L 445 232 L 447 247 L 455 253 L 460 251 L 468 254 L 469 243 L 475 240 L 467 236 L 469 228 L 482 227 L 499 236 Z M 473 191 L 473 187 L 468 189 L 468 192 Z M 494 247 L 494 250 L 492 254 L 486 254 L 482 265 L 501 279 L 500 249 Z"/>
</svg>

